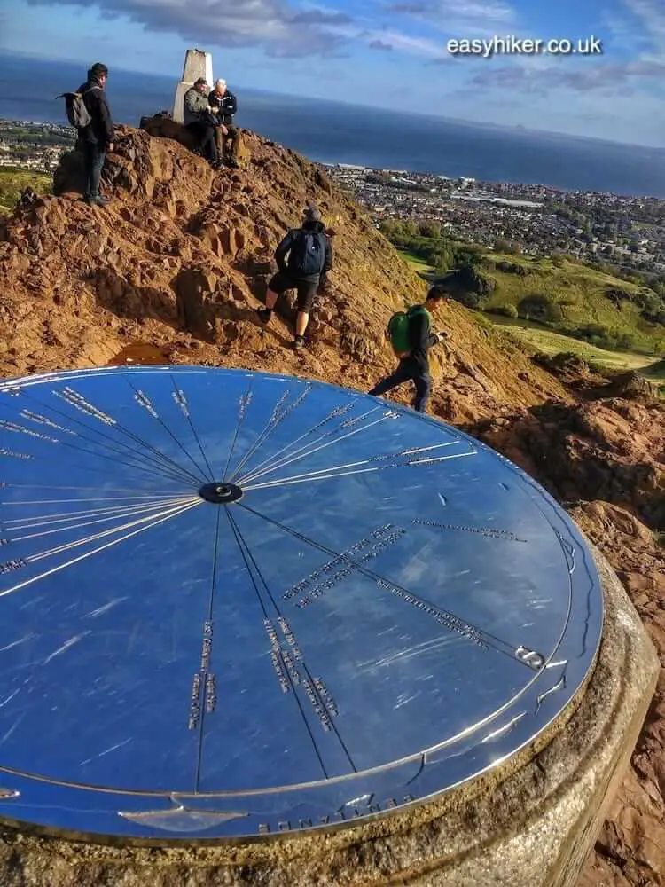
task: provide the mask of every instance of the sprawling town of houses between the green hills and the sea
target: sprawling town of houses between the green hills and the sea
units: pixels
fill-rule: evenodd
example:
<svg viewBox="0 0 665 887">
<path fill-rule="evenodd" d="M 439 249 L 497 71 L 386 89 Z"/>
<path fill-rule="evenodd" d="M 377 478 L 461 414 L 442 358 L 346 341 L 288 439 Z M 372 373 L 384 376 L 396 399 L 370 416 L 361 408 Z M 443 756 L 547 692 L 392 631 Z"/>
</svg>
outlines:
<svg viewBox="0 0 665 887">
<path fill-rule="evenodd" d="M 0 121 L 0 170 L 52 173 L 76 133 L 58 123 Z M 665 200 L 606 192 L 570 192 L 536 184 L 325 164 L 332 180 L 379 225 L 434 220 L 442 234 L 492 248 L 519 245 L 526 255 L 564 253 L 626 271 L 665 271 Z"/>
</svg>

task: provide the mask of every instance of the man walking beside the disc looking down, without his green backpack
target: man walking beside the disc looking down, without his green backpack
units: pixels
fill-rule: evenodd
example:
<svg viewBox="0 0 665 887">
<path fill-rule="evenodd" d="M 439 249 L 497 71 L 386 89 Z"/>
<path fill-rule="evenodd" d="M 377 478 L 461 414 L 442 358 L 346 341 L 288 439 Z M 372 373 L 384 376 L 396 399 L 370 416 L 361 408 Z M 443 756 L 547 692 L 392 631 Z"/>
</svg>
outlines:
<svg viewBox="0 0 665 887">
<path fill-rule="evenodd" d="M 427 293 L 425 303 L 417 305 L 407 312 L 411 347 L 408 351 L 398 355 L 400 362 L 395 373 L 391 373 L 386 379 L 380 381 L 368 394 L 374 396 L 386 394 L 387 391 L 402 385 L 403 382 L 412 381 L 416 393 L 411 405 L 417 412 L 426 412 L 427 401 L 432 392 L 429 349 L 446 338 L 444 333 L 432 332 L 431 312 L 450 294 L 450 289 L 446 289 L 445 286 L 444 283 L 432 287 Z"/>
</svg>

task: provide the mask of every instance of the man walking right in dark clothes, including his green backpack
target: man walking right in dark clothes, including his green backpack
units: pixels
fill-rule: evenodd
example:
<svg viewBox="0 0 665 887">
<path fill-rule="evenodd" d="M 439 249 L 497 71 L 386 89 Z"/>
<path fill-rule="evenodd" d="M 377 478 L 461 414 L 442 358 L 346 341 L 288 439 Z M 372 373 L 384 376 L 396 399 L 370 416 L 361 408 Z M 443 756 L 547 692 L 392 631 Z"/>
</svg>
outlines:
<svg viewBox="0 0 665 887">
<path fill-rule="evenodd" d="M 415 396 L 412 407 L 417 412 L 426 412 L 427 401 L 432 392 L 432 376 L 429 373 L 429 349 L 442 339 L 446 333 L 432 332 L 431 312 L 442 304 L 442 301 L 458 291 L 460 281 L 458 272 L 451 271 L 432 287 L 427 293 L 425 303 L 414 305 L 405 313 L 396 312 L 388 323 L 387 334 L 390 338 L 399 364 L 394 373 L 390 373 L 380 381 L 368 394 L 379 396 L 390 389 L 412 381 Z M 404 325 L 400 330 L 399 327 Z M 403 341 L 398 341 L 402 339 Z"/>
</svg>

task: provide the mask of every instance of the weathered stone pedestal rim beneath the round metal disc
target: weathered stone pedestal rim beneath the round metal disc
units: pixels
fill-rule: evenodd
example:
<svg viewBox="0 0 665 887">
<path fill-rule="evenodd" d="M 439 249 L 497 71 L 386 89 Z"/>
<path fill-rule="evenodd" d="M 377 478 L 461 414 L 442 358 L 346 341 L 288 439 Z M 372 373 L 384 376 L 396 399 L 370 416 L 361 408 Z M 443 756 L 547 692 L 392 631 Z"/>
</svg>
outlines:
<svg viewBox="0 0 665 887">
<path fill-rule="evenodd" d="M 199 847 L 76 844 L 4 828 L 4 887 L 572 887 L 630 759 L 658 661 L 595 551 L 606 618 L 595 670 L 537 748 L 429 805 L 356 828 Z"/>
</svg>

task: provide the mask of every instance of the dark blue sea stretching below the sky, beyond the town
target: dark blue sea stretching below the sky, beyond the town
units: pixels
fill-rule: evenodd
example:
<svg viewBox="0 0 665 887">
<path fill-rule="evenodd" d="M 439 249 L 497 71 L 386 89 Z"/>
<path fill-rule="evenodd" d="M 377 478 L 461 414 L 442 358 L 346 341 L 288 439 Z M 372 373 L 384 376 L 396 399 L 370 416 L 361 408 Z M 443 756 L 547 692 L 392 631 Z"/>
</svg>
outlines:
<svg viewBox="0 0 665 887">
<path fill-rule="evenodd" d="M 78 87 L 84 74 L 83 65 L 0 53 L 0 118 L 64 122 L 64 101 L 54 97 Z M 112 70 L 113 117 L 137 125 L 143 114 L 171 108 L 175 88 L 175 77 Z M 314 161 L 665 199 L 665 148 L 230 88 L 239 98 L 240 126 Z"/>
</svg>

